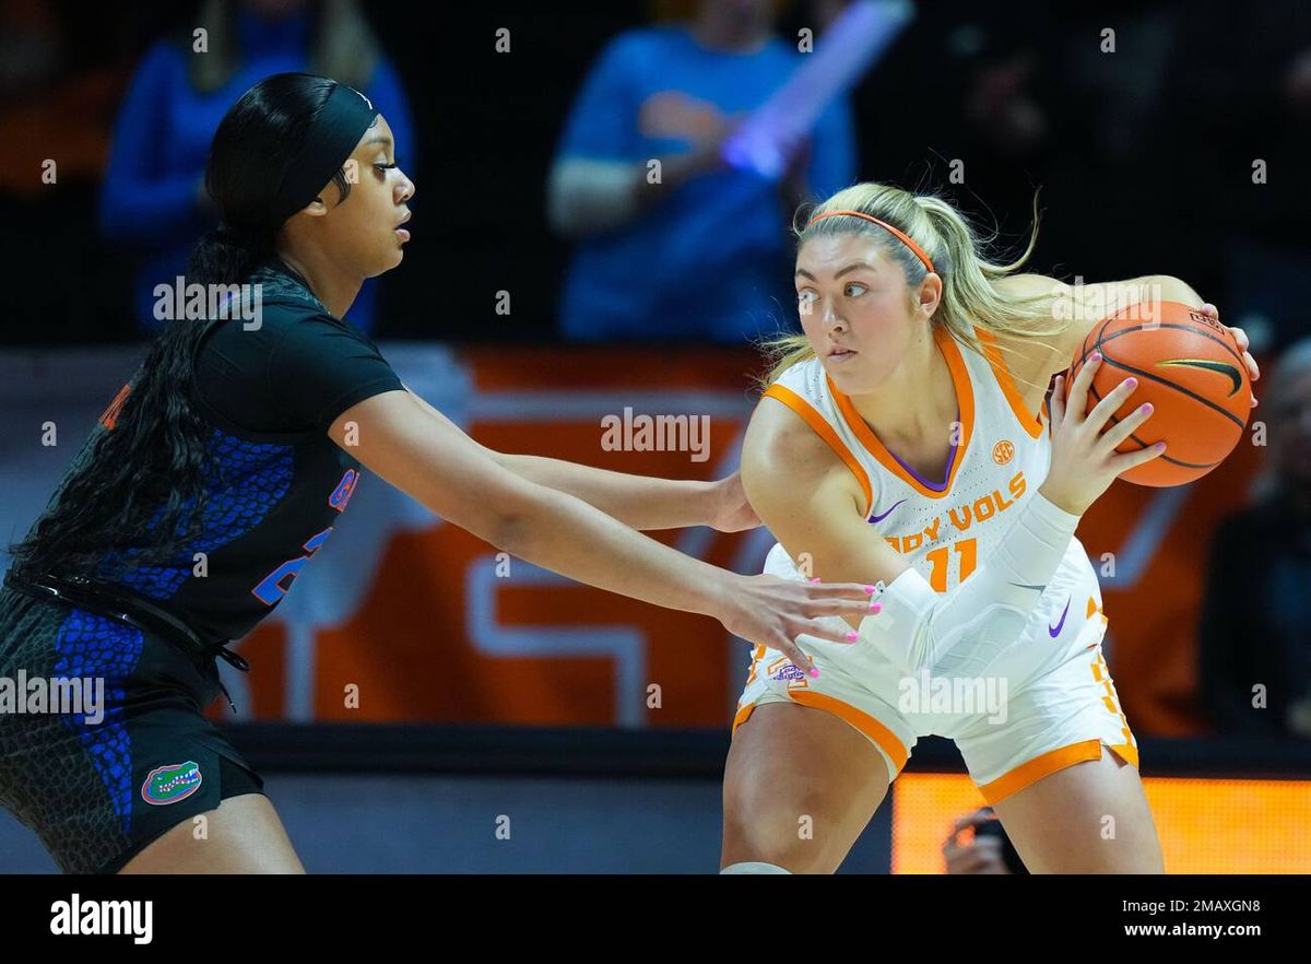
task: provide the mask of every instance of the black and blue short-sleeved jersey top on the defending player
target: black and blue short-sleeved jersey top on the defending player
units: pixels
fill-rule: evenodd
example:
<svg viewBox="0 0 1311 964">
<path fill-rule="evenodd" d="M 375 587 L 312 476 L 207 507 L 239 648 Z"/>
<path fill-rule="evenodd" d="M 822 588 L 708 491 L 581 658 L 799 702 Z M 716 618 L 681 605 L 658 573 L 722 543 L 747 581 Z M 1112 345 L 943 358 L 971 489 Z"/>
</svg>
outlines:
<svg viewBox="0 0 1311 964">
<path fill-rule="evenodd" d="M 194 396 L 214 456 L 201 534 L 166 565 L 131 565 L 140 546 L 106 547 L 98 565 L 101 581 L 206 639 L 246 635 L 302 577 L 361 477 L 361 463 L 329 439 L 328 426 L 351 405 L 404 388 L 378 346 L 333 317 L 281 260 L 248 281 L 260 285 L 257 327 L 241 317 L 197 323 L 207 331 L 197 346 Z M 66 479 L 114 430 L 139 375 L 101 416 Z M 163 510 L 161 500 L 155 519 Z"/>
</svg>

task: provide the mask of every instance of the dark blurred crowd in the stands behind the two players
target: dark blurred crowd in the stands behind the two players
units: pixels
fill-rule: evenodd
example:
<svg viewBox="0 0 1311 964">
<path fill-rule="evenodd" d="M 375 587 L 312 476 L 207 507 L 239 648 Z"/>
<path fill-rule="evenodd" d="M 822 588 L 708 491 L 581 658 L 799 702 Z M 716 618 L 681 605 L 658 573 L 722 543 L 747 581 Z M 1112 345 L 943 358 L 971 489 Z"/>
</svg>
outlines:
<svg viewBox="0 0 1311 964">
<path fill-rule="evenodd" d="M 855 180 L 940 191 L 1013 253 L 1041 188 L 1030 270 L 1173 274 L 1251 336 L 1270 445 L 1211 543 L 1198 686 L 1219 731 L 1311 737 L 1307 5 L 920 4 L 783 177 L 725 167 L 800 31 L 822 43 L 844 7 L 0 0 L 0 340 L 151 337 L 151 289 L 214 222 L 210 136 L 284 70 L 366 92 L 418 185 L 405 264 L 347 315 L 383 340 L 741 346 L 796 325 L 806 201 Z M 663 189 L 636 191 L 656 156 Z M 1253 679 L 1294 710 L 1253 713 Z"/>
</svg>

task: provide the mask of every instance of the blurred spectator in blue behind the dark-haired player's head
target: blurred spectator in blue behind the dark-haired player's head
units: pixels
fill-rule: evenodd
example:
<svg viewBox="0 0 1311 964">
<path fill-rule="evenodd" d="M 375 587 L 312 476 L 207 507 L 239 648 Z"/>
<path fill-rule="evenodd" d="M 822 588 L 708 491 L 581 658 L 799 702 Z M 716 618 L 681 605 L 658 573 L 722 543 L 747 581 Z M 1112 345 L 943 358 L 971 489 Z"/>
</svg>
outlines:
<svg viewBox="0 0 1311 964">
<path fill-rule="evenodd" d="M 114 126 L 100 224 L 106 237 L 140 253 L 132 313 L 142 334 L 155 319 L 155 286 L 186 271 L 197 235 L 216 214 L 205 193 L 205 161 L 219 121 L 270 73 L 323 73 L 364 93 L 387 118 L 396 143 L 414 143 L 400 77 L 383 56 L 354 0 L 207 0 L 189 34 L 156 42 L 142 60 Z M 402 159 L 414 169 L 413 152 Z M 376 279 L 364 282 L 346 315 L 374 328 Z"/>
</svg>

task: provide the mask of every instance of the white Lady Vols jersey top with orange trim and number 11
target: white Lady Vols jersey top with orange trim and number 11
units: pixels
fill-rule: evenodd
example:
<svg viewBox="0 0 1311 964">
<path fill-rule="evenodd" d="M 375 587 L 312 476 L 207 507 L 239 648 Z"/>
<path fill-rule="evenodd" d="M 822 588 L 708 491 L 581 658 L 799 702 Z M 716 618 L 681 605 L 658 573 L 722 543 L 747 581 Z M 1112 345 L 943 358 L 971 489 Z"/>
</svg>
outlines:
<svg viewBox="0 0 1311 964">
<path fill-rule="evenodd" d="M 865 492 L 867 521 L 940 593 L 954 589 L 996 551 L 1023 500 L 1037 492 L 1051 464 L 1046 404 L 1038 416 L 1028 412 L 996 337 L 978 327 L 974 332 L 987 358 L 935 328 L 960 407 L 957 425 L 950 426 L 956 445 L 936 479 L 920 477 L 878 441 L 818 358 L 793 365 L 764 393 L 792 408 L 829 443 Z M 1054 613 L 1066 605 L 1071 623 L 1093 613 L 1101 618 L 1096 576 L 1076 538 L 1061 565 L 1091 577 L 1080 580 L 1087 592 L 1079 595 L 1087 599 L 1066 592 L 1061 601 L 1044 602 L 1054 605 Z M 800 574 L 781 544 L 770 552 L 766 572 Z"/>
</svg>

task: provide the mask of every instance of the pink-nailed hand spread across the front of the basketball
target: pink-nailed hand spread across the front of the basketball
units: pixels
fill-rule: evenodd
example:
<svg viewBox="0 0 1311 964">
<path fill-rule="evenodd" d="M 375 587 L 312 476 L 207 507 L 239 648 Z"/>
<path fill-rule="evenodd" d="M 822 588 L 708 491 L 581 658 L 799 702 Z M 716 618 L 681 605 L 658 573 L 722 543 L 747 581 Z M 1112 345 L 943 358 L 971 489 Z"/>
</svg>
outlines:
<svg viewBox="0 0 1311 964">
<path fill-rule="evenodd" d="M 1051 392 L 1051 468 L 1038 491 L 1058 509 L 1075 515 L 1083 515 L 1121 472 L 1151 462 L 1164 451 L 1164 442 L 1131 452 L 1116 451 L 1116 446 L 1147 421 L 1151 407 L 1139 405 L 1105 428 L 1138 386 L 1137 379 L 1125 379 L 1088 412 L 1088 390 L 1100 362 L 1101 355 L 1093 353 L 1074 382 L 1057 375 Z"/>
</svg>

